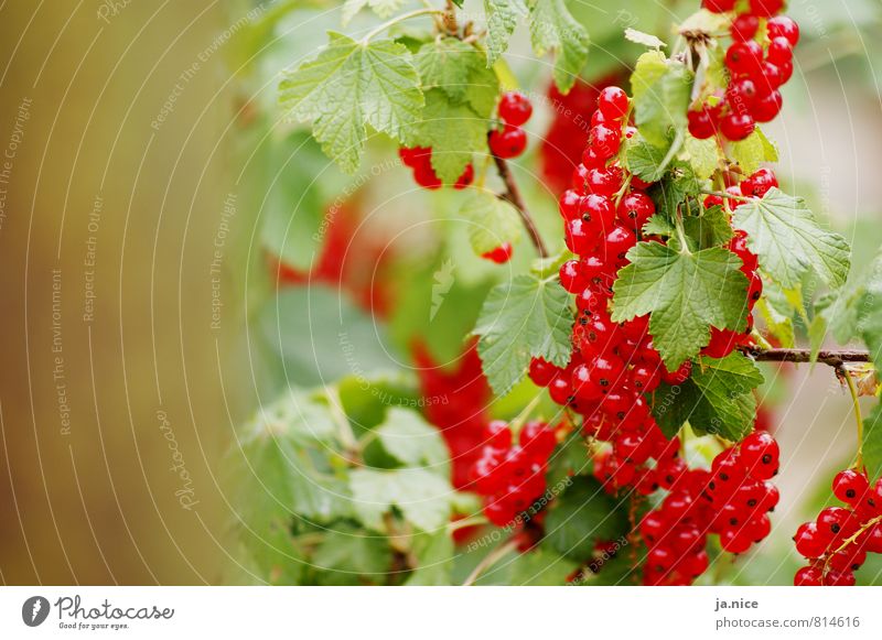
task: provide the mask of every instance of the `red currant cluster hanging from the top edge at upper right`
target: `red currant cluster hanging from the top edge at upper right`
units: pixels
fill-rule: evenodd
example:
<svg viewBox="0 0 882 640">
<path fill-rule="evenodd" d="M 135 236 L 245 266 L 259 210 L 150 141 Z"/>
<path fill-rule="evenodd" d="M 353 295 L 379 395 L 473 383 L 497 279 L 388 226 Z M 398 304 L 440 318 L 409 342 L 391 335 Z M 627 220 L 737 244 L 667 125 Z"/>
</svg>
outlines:
<svg viewBox="0 0 882 640">
<path fill-rule="evenodd" d="M 704 8 L 716 13 L 734 11 L 736 0 L 704 0 Z M 778 15 L 784 0 L 751 0 L 750 10 L 735 15 L 725 52 L 729 84 L 689 111 L 689 132 L 698 139 L 718 132 L 728 140 L 744 140 L 756 122 L 770 122 L 781 112 L 778 90 L 793 76 L 793 47 L 799 42 L 799 26 L 786 15 Z M 765 23 L 765 36 L 761 25 Z"/>
</svg>

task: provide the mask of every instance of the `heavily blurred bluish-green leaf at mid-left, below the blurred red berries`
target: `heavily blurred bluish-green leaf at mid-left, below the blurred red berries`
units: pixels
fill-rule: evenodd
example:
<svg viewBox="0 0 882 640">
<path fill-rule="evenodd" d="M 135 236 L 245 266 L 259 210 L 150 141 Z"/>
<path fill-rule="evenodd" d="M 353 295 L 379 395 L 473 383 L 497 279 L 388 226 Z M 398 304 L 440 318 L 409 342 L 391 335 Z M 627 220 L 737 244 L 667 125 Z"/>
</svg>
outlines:
<svg viewBox="0 0 882 640">
<path fill-rule="evenodd" d="M 291 288 L 267 301 L 259 321 L 289 383 L 314 387 L 400 367 L 385 326 L 337 290 L 314 284 Z"/>
</svg>

